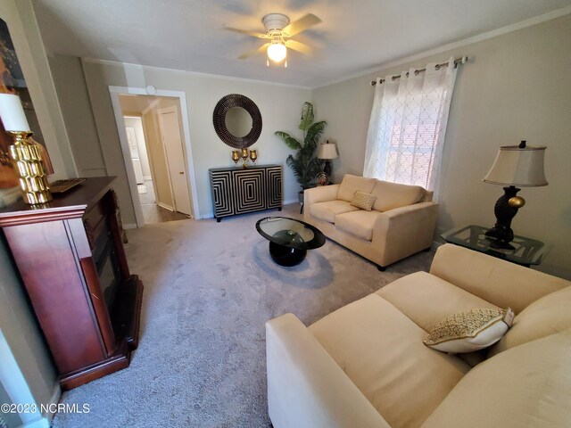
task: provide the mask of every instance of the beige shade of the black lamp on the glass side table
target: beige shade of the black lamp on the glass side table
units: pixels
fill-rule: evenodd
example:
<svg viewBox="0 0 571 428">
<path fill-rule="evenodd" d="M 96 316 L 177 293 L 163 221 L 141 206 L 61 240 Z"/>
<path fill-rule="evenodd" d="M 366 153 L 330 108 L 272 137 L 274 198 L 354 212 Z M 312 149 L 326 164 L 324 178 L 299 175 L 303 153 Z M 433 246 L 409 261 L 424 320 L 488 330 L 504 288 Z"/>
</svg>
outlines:
<svg viewBox="0 0 571 428">
<path fill-rule="evenodd" d="M 543 172 L 545 148 L 545 146 L 522 148 L 517 145 L 500 147 L 492 169 L 484 177 L 484 182 L 520 187 L 548 185 Z"/>
</svg>

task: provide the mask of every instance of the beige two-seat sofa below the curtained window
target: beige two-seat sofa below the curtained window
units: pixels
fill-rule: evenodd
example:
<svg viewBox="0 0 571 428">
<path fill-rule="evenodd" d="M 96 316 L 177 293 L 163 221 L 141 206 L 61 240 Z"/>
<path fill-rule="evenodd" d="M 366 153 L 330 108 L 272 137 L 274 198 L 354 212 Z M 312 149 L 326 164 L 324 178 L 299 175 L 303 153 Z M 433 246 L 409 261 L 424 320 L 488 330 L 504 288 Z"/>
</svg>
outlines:
<svg viewBox="0 0 571 428">
<path fill-rule="evenodd" d="M 377 198 L 370 211 L 353 207 L 355 192 Z M 432 192 L 375 178 L 343 177 L 303 193 L 303 219 L 329 239 L 377 264 L 379 270 L 430 248 L 438 215 Z"/>
</svg>

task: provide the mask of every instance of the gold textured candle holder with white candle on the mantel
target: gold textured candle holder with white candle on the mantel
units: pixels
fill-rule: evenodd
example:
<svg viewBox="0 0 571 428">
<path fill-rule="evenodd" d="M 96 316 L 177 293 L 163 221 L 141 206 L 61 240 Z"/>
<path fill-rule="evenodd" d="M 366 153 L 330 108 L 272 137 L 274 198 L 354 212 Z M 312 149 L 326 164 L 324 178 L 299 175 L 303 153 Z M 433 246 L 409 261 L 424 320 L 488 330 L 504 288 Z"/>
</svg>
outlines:
<svg viewBox="0 0 571 428">
<path fill-rule="evenodd" d="M 14 144 L 10 146 L 10 156 L 24 202 L 37 204 L 52 201 L 42 153 L 36 145 L 28 141 L 32 132 L 29 130 L 28 119 L 18 95 L 0 94 L 0 119 L 5 131 L 14 138 Z"/>
</svg>

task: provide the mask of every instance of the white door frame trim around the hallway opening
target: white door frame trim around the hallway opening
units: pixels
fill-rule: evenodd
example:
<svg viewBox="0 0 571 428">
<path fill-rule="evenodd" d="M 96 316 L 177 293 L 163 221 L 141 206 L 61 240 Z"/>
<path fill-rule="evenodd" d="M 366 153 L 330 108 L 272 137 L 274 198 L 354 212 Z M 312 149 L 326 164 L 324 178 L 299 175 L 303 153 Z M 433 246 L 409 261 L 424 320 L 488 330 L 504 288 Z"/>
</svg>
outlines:
<svg viewBox="0 0 571 428">
<path fill-rule="evenodd" d="M 154 92 L 154 91 L 153 91 Z M 123 113 L 121 111 L 119 95 L 155 95 L 164 96 L 171 98 L 178 98 L 178 103 L 180 105 L 180 118 L 182 119 L 182 131 L 183 131 L 183 153 L 185 154 L 186 160 L 186 182 L 188 188 L 190 189 L 190 198 L 193 208 L 194 218 L 199 218 L 200 210 L 198 209 L 198 198 L 196 191 L 196 177 L 194 175 L 194 162 L 193 162 L 193 151 L 192 144 L 190 141 L 190 127 L 188 124 L 188 111 L 186 109 L 186 93 L 183 91 L 167 91 L 162 89 L 156 89 L 154 94 L 149 94 L 144 87 L 135 86 L 109 86 L 109 93 L 111 95 L 113 113 L 115 115 L 115 122 L 117 125 L 117 132 L 119 133 L 119 140 L 121 146 L 121 152 L 123 153 L 123 163 L 127 172 L 128 187 L 131 193 L 131 202 L 133 203 L 133 208 L 135 210 L 135 218 L 137 220 L 137 227 L 145 226 L 145 220 L 143 218 L 143 209 L 141 208 L 141 203 L 139 199 L 139 193 L 137 191 L 137 180 L 135 179 L 135 169 L 133 169 L 133 163 L 131 162 L 131 157 L 128 152 L 128 141 L 127 141 L 127 131 L 125 131 L 125 120 L 123 119 Z"/>
</svg>

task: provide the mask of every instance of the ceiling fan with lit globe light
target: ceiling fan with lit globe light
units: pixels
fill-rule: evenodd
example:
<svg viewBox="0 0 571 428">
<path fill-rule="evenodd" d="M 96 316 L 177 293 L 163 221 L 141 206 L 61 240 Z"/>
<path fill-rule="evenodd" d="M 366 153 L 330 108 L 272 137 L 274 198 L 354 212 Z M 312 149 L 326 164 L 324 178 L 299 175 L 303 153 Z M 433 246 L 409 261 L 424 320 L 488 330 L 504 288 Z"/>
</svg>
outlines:
<svg viewBox="0 0 571 428">
<path fill-rule="evenodd" d="M 237 33 L 247 34 L 249 36 L 266 38 L 269 42 L 265 45 L 261 45 L 258 49 L 242 53 L 238 56 L 239 60 L 245 60 L 246 58 L 256 54 L 262 53 L 264 50 L 268 54 L 268 59 L 266 64 L 269 66 L 269 60 L 279 63 L 284 61 L 285 67 L 287 67 L 287 48 L 293 49 L 294 51 L 310 54 L 312 48 L 309 45 L 305 45 L 297 40 L 292 40 L 290 37 L 294 37 L 296 34 L 310 29 L 314 25 L 319 24 L 321 20 L 315 16 L 313 13 L 308 13 L 297 21 L 291 22 L 289 18 L 283 13 L 269 13 L 264 16 L 261 21 L 264 24 L 266 30 L 265 33 L 258 31 L 249 31 L 247 29 L 233 29 L 230 27 L 225 27 L 230 31 L 236 31 Z"/>
</svg>

